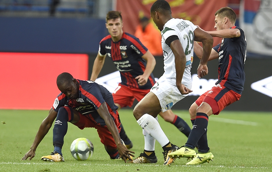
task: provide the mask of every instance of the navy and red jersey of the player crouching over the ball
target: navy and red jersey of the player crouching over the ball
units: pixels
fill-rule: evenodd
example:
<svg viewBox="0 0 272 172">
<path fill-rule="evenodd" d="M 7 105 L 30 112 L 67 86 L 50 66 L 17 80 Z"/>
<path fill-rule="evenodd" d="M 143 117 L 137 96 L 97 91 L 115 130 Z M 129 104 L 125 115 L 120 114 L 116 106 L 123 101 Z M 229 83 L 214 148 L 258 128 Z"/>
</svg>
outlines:
<svg viewBox="0 0 272 172">
<path fill-rule="evenodd" d="M 93 81 L 77 80 L 79 83 L 78 99 L 70 99 L 65 94 L 60 93 L 55 99 L 53 109 L 58 112 L 60 107 L 70 106 L 82 115 L 93 121 L 94 124 L 105 126 L 105 121 L 100 117 L 97 109 L 106 102 L 113 121 L 119 120 L 118 107 L 113 102 L 112 94 L 102 85 Z"/>
</svg>

